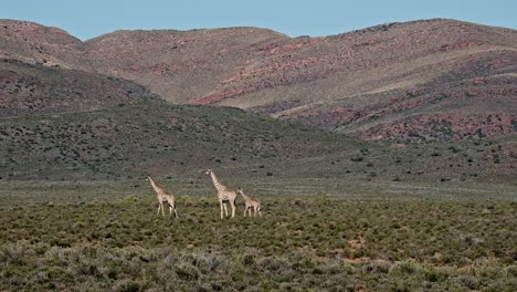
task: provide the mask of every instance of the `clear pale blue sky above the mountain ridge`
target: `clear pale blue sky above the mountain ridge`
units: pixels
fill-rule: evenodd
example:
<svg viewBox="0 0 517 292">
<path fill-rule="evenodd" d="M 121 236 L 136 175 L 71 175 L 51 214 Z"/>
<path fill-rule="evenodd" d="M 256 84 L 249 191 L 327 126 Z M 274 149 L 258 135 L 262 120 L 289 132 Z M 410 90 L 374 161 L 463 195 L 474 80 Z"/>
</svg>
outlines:
<svg viewBox="0 0 517 292">
<path fill-rule="evenodd" d="M 57 27 L 80 39 L 119 29 L 261 27 L 291 36 L 450 18 L 517 29 L 516 0 L 11 0 L 0 18 Z"/>
</svg>

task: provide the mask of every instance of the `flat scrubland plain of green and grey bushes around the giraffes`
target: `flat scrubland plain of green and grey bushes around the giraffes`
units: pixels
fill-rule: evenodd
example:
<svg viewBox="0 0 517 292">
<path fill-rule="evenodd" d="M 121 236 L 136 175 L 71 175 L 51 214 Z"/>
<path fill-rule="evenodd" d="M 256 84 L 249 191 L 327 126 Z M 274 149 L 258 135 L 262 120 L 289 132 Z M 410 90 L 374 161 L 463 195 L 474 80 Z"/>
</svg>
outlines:
<svg viewBox="0 0 517 292">
<path fill-rule="evenodd" d="M 219 218 L 208 177 L 0 184 L 2 291 L 515 291 L 517 186 L 233 178 L 262 218 Z"/>
</svg>

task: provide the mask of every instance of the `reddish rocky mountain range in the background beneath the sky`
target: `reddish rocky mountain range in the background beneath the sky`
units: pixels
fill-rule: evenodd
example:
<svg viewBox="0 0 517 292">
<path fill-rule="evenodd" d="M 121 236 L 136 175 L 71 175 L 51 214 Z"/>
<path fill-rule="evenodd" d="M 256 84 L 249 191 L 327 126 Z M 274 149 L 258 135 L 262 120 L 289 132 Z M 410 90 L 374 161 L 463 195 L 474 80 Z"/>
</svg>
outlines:
<svg viewBox="0 0 517 292">
<path fill-rule="evenodd" d="M 231 28 L 117 31 L 85 42 L 0 21 L 0 58 L 123 77 L 172 103 L 236 106 L 368 140 L 517 131 L 517 31 L 454 20 L 326 38 Z"/>
</svg>

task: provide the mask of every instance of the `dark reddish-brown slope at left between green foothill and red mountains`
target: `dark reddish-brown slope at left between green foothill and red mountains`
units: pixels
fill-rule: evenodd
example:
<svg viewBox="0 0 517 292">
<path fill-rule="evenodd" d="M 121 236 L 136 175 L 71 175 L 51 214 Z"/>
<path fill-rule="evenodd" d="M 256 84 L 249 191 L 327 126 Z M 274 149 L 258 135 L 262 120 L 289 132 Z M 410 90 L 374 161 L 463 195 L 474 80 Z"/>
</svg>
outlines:
<svg viewBox="0 0 517 292">
<path fill-rule="evenodd" d="M 148 100 L 161 101 L 122 79 L 0 60 L 0 117 L 88 112 Z"/>
</svg>

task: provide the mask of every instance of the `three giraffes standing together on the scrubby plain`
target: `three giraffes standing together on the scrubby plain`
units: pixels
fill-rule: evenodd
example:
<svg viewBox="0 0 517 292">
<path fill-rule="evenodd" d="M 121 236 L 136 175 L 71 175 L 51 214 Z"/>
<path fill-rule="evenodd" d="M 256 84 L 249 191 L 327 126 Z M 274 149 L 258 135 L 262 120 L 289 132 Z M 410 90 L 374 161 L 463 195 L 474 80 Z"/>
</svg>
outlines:
<svg viewBox="0 0 517 292">
<path fill-rule="evenodd" d="M 258 216 L 262 217 L 261 202 L 257 199 L 244 194 L 244 190 L 242 188 L 239 188 L 236 190 L 228 188 L 219 181 L 218 177 L 215 177 L 215 174 L 212 171 L 212 169 L 207 169 L 202 173 L 207 176 L 212 177 L 213 186 L 218 190 L 218 199 L 219 205 L 221 207 L 221 219 L 224 218 L 224 213 L 226 215 L 226 217 L 229 216 L 226 202 L 229 202 L 230 207 L 232 208 L 232 218 L 235 218 L 235 201 L 238 194 L 241 194 L 242 198 L 244 199 L 244 217 L 246 217 L 247 211 L 250 212 L 251 217 L 252 209 L 254 211 L 253 217 L 256 217 L 257 212 Z M 175 217 L 178 218 L 178 212 L 176 211 L 176 196 L 172 194 L 168 194 L 158 185 L 156 185 L 155 180 L 152 180 L 151 177 L 147 177 L 146 180 L 151 185 L 158 198 L 158 216 L 160 215 L 161 209 L 161 215 L 165 217 L 163 204 L 167 204 L 169 206 L 169 217 L 171 217 L 172 212 L 175 212 Z"/>
</svg>

